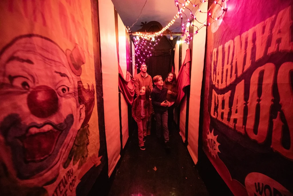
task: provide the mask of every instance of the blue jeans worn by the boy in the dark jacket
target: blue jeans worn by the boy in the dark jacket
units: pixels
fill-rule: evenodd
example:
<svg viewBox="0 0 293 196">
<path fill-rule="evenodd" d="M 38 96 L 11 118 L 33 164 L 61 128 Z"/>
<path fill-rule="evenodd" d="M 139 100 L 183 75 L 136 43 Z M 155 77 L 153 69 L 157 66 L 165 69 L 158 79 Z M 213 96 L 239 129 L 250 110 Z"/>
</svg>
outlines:
<svg viewBox="0 0 293 196">
<path fill-rule="evenodd" d="M 168 130 L 168 111 L 163 113 L 155 113 L 156 116 L 156 134 L 158 138 L 161 138 L 161 128 L 163 125 L 163 134 L 165 143 L 169 141 L 169 130 Z"/>
</svg>

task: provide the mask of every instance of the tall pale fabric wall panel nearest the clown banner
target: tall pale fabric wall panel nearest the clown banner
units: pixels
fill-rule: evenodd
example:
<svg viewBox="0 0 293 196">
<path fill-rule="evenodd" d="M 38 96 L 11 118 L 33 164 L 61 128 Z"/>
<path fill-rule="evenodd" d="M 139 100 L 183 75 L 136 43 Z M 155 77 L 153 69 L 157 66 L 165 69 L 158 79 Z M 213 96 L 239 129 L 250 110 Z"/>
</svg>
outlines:
<svg viewBox="0 0 293 196">
<path fill-rule="evenodd" d="M 98 1 L 108 175 L 120 158 L 118 59 L 112 1 Z"/>
</svg>

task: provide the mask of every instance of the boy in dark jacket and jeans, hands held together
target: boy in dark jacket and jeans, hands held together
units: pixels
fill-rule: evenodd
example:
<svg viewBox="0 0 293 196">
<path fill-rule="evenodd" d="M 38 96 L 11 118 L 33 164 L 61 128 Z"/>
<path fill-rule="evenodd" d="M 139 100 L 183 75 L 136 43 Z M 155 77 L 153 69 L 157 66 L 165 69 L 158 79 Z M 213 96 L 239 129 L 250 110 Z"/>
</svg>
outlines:
<svg viewBox="0 0 293 196">
<path fill-rule="evenodd" d="M 151 91 L 151 102 L 156 116 L 156 134 L 157 138 L 161 138 L 161 127 L 163 125 L 163 134 L 165 139 L 165 147 L 169 145 L 169 130 L 168 130 L 168 105 L 166 100 L 168 89 L 163 86 L 162 76 L 155 76 L 153 82 L 156 85 Z"/>
</svg>

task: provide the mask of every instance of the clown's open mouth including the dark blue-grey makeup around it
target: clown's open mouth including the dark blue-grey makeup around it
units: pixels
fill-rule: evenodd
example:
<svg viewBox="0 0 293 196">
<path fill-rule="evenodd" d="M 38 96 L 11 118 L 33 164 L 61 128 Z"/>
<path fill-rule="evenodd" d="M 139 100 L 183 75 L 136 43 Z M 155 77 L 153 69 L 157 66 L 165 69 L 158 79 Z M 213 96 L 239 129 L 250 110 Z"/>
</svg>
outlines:
<svg viewBox="0 0 293 196">
<path fill-rule="evenodd" d="M 7 115 L 0 122 L 0 134 L 11 149 L 17 177 L 30 179 L 60 164 L 61 158 L 68 155 L 78 131 L 75 127 L 72 129 L 73 124 L 72 114 L 61 123 L 47 120 L 28 125 L 22 123 L 18 114 Z"/>
</svg>

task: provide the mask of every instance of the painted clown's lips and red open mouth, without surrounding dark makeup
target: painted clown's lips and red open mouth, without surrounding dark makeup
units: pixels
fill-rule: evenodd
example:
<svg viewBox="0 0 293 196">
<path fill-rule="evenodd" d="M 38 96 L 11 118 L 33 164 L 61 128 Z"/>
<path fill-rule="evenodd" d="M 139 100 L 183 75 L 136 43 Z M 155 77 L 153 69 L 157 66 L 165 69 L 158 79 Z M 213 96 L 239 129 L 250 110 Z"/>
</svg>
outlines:
<svg viewBox="0 0 293 196">
<path fill-rule="evenodd" d="M 23 143 L 25 160 L 38 162 L 50 156 L 61 133 L 52 123 L 28 127 L 26 134 L 18 138 Z"/>
</svg>

